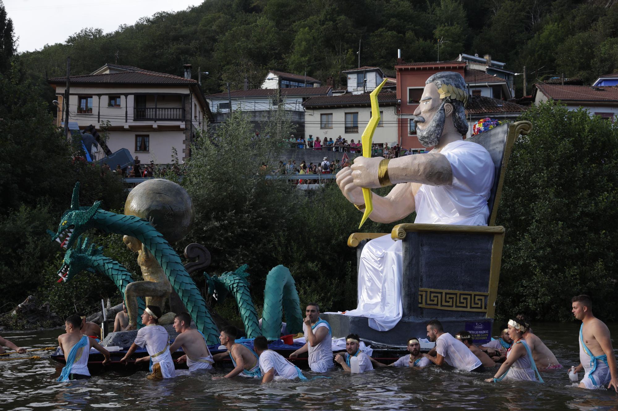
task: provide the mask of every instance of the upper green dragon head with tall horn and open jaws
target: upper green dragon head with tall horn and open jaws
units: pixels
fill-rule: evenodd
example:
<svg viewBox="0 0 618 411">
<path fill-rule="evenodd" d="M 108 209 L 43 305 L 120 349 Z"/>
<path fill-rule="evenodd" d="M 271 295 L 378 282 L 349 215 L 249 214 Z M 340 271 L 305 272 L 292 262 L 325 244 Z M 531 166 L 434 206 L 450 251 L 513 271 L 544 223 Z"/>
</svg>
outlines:
<svg viewBox="0 0 618 411">
<path fill-rule="evenodd" d="M 62 215 L 58 231 L 54 233 L 51 230 L 47 230 L 51 240 L 55 240 L 61 247 L 69 249 L 73 245 L 75 238 L 93 226 L 92 217 L 94 217 L 100 205 L 101 202 L 97 201 L 91 207 L 79 206 L 79 181 L 77 181 L 73 189 L 71 207 Z"/>
</svg>

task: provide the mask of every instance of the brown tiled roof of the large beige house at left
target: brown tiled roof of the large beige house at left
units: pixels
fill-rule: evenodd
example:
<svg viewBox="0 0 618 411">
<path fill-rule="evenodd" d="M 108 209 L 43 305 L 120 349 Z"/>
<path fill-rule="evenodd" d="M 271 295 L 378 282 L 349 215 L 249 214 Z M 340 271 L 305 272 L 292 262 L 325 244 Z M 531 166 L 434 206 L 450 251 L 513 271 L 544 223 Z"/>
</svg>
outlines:
<svg viewBox="0 0 618 411">
<path fill-rule="evenodd" d="M 114 65 L 108 64 L 110 67 Z M 86 74 L 70 76 L 71 83 L 75 84 L 197 84 L 197 81 L 167 73 L 151 72 L 131 66 L 116 66 L 127 70 L 122 73 Z M 50 78 L 48 83 L 66 83 L 66 77 Z"/>
</svg>

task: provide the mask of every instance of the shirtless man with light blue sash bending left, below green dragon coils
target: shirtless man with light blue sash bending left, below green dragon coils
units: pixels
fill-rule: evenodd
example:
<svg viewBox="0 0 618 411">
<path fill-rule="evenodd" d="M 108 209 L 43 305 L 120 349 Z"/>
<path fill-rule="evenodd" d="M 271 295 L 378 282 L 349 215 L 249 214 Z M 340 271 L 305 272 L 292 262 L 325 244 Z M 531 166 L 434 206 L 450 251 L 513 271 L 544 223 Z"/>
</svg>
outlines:
<svg viewBox="0 0 618 411">
<path fill-rule="evenodd" d="M 258 364 L 258 354 L 251 351 L 243 344 L 236 344 L 234 341 L 237 336 L 236 327 L 228 325 L 221 330 L 219 341 L 222 346 L 226 346 L 227 351 L 214 354 L 215 361 L 221 361 L 230 356 L 234 363 L 234 370 L 227 373 L 224 378 L 234 378 L 237 375 L 248 376 L 251 378 L 261 378 L 260 365 Z M 213 380 L 218 377 L 213 377 Z"/>
</svg>

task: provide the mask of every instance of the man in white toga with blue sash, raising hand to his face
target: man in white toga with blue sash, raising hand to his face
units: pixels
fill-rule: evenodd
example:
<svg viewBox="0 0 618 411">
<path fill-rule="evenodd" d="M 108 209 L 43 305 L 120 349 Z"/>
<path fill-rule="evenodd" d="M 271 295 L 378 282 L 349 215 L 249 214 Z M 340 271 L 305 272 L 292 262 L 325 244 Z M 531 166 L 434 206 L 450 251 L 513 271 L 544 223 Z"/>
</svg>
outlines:
<svg viewBox="0 0 618 411">
<path fill-rule="evenodd" d="M 298 354 L 308 352 L 309 368 L 316 373 L 325 373 L 334 367 L 332 362 L 332 332 L 331 325 L 320 318 L 320 306 L 315 302 L 307 304 L 305 309 L 303 331 L 307 342 L 304 346 L 290 354 L 290 359 L 298 358 Z"/>
</svg>

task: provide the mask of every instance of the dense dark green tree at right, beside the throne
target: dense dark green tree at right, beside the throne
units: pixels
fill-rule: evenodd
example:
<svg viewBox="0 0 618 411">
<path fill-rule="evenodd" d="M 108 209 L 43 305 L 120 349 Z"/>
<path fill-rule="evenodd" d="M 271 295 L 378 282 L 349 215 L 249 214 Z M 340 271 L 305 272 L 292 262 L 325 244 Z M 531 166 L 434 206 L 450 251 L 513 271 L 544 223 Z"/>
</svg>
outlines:
<svg viewBox="0 0 618 411">
<path fill-rule="evenodd" d="M 615 321 L 618 128 L 556 104 L 523 120 L 533 129 L 515 143 L 497 218 L 507 230 L 497 310 L 567 320 L 571 297 L 588 294 Z"/>
</svg>

